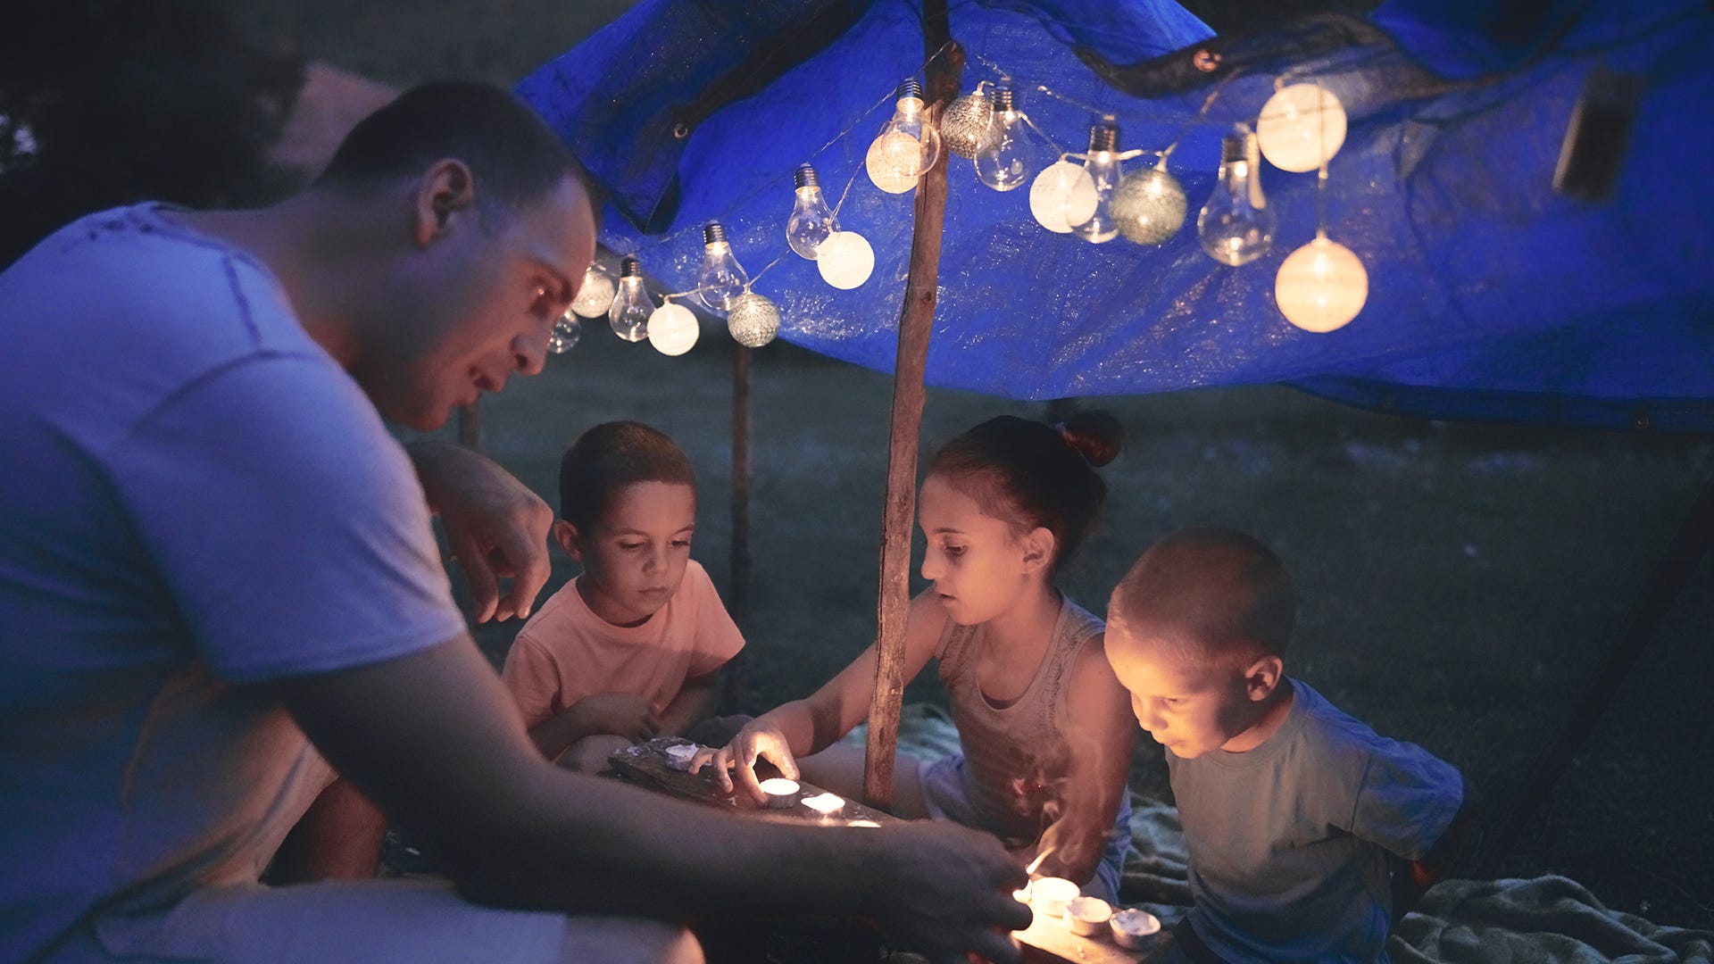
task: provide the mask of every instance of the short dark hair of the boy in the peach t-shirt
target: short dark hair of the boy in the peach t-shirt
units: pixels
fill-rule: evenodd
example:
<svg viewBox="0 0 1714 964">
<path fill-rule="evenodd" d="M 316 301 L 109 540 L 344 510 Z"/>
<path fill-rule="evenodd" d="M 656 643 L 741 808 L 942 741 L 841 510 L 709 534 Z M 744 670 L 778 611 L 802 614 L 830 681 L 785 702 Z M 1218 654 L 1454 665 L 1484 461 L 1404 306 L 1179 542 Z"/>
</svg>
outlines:
<svg viewBox="0 0 1714 964">
<path fill-rule="evenodd" d="M 602 422 L 578 436 L 559 460 L 559 518 L 590 532 L 614 496 L 638 482 L 675 482 L 696 489 L 691 458 L 660 429 L 643 422 Z"/>
</svg>

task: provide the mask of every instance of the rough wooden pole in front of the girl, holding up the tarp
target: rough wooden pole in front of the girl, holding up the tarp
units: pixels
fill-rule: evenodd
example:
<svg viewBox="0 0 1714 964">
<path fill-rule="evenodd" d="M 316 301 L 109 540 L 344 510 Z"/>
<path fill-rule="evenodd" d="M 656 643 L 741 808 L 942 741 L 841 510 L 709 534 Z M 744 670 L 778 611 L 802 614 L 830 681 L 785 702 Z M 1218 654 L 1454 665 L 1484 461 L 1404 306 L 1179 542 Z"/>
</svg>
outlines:
<svg viewBox="0 0 1714 964">
<path fill-rule="evenodd" d="M 958 96 L 963 50 L 951 43 L 946 0 L 922 5 L 929 122 Z M 944 50 L 943 50 L 944 48 Z M 938 55 L 938 57 L 936 57 Z M 910 233 L 910 274 L 898 312 L 898 355 L 893 362 L 893 419 L 888 432 L 886 503 L 881 509 L 881 593 L 876 604 L 874 700 L 869 703 L 869 748 L 864 758 L 864 801 L 878 810 L 893 804 L 893 760 L 898 750 L 898 710 L 905 696 L 905 614 L 910 609 L 910 527 L 917 508 L 917 437 L 922 431 L 922 372 L 934 328 L 941 269 L 941 226 L 946 220 L 946 153 L 917 180 Z"/>
</svg>

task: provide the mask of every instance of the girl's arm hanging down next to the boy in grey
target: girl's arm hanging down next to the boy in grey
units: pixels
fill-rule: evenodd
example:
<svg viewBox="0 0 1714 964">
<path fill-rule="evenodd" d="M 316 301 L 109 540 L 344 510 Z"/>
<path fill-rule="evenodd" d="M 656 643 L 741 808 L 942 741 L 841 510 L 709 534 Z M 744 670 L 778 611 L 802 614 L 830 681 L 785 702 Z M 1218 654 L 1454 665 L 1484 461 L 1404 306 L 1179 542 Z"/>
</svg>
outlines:
<svg viewBox="0 0 1714 964">
<path fill-rule="evenodd" d="M 1063 810 L 1042 834 L 1037 853 L 1047 853 L 1040 873 L 1082 883 L 1095 875 L 1107 847 L 1136 744 L 1131 698 L 1107 666 L 1104 635 L 1083 647 L 1071 669 L 1066 727 L 1071 763 L 1059 799 Z"/>
</svg>

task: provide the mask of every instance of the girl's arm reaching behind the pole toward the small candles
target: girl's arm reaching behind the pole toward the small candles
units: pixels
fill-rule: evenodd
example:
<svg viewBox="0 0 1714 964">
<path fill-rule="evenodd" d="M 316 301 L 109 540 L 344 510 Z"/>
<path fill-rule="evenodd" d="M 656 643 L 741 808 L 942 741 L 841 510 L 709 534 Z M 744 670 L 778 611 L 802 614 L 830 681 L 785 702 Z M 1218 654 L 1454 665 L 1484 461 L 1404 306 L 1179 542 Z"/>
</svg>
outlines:
<svg viewBox="0 0 1714 964">
<path fill-rule="evenodd" d="M 905 618 L 905 683 L 915 679 L 927 666 L 944 626 L 946 609 L 932 593 L 917 595 L 910 602 L 910 614 Z M 787 777 L 797 779 L 797 756 L 826 750 L 869 717 L 878 662 L 879 655 L 871 643 L 850 666 L 807 698 L 792 700 L 756 717 L 718 753 L 699 753 L 691 770 L 699 770 L 711 760 L 722 789 L 732 789 L 732 775 L 727 772 L 730 768 L 758 803 L 766 799 L 756 780 L 756 760 L 768 760 Z"/>
</svg>

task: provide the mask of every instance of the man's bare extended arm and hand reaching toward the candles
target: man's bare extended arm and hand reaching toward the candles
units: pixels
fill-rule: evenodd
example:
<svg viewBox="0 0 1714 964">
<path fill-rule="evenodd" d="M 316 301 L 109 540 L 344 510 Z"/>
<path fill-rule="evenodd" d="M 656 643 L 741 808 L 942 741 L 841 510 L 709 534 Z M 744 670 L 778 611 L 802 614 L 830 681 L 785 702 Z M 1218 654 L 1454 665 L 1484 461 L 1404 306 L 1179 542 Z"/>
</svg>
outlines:
<svg viewBox="0 0 1714 964">
<path fill-rule="evenodd" d="M 322 755 L 475 901 L 682 921 L 872 914 L 936 961 L 1013 962 L 1022 870 L 962 827 L 790 827 L 542 760 L 470 636 L 273 690 Z"/>
</svg>

